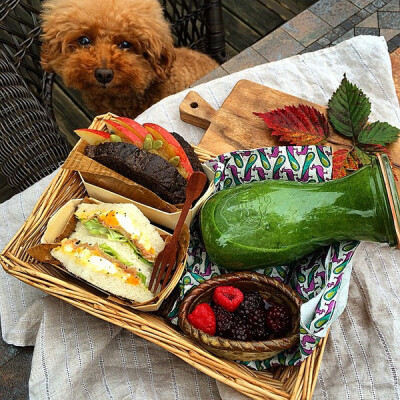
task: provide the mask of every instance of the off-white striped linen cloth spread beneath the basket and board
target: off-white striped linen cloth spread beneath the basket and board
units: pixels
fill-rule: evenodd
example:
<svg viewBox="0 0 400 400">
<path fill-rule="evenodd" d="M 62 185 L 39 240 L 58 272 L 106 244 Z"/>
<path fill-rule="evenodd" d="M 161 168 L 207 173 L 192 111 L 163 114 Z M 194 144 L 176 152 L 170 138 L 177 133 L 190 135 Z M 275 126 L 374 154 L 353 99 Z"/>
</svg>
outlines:
<svg viewBox="0 0 400 400">
<path fill-rule="evenodd" d="M 195 90 L 218 109 L 239 79 L 249 79 L 327 104 L 344 73 L 370 98 L 370 121 L 379 119 L 400 127 L 400 108 L 382 37 L 359 36 Z M 186 93 L 160 101 L 137 121 L 158 123 L 198 143 L 204 131 L 179 118 L 178 106 Z M 1 248 L 29 216 L 52 176 L 0 205 Z M 348 304 L 331 328 L 314 398 L 399 399 L 400 252 L 362 243 L 353 265 Z M 47 296 L 2 269 L 0 321 L 7 343 L 35 346 L 31 399 L 245 398 L 156 345 Z"/>
</svg>

